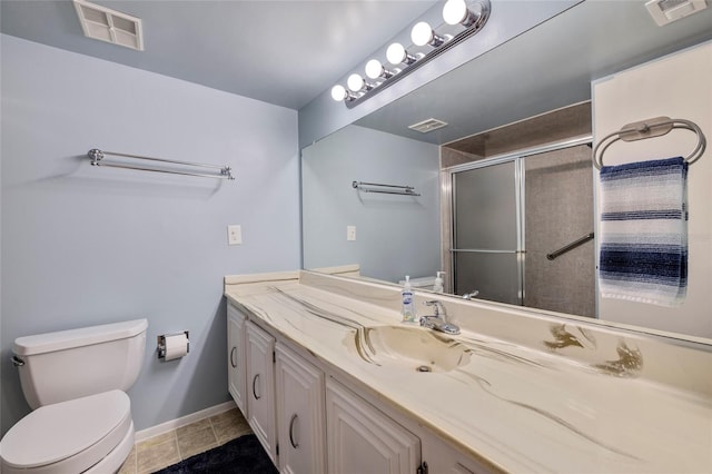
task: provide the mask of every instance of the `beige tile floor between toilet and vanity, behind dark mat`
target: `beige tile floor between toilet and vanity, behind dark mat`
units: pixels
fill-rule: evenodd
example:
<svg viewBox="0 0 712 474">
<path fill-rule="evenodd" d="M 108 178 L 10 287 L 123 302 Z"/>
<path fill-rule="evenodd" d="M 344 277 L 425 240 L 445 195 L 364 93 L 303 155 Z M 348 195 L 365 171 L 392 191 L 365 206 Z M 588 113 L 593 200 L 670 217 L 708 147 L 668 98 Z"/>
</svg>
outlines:
<svg viewBox="0 0 712 474">
<path fill-rule="evenodd" d="M 119 474 L 149 474 L 249 433 L 234 408 L 136 443 Z"/>
</svg>

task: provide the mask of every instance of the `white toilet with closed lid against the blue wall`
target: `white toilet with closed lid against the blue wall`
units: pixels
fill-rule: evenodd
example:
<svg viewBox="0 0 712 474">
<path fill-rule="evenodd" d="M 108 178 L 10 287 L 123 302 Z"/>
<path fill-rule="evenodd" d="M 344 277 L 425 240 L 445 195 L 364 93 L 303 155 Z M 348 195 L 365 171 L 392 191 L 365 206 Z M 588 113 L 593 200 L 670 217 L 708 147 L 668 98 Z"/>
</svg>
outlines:
<svg viewBox="0 0 712 474">
<path fill-rule="evenodd" d="M 33 411 L 0 441 L 0 472 L 118 472 L 134 447 L 126 391 L 144 364 L 147 328 L 135 319 L 17 338 L 12 359 Z"/>
</svg>

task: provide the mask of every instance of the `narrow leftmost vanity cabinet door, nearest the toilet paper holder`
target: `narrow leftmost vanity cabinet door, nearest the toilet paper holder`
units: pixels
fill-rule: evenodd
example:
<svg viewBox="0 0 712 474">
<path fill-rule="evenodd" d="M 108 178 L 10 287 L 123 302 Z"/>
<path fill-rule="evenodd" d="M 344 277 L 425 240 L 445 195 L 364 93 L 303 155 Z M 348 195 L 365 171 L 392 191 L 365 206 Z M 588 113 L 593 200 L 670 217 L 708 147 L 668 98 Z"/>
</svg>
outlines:
<svg viewBox="0 0 712 474">
<path fill-rule="evenodd" d="M 247 317 L 227 305 L 227 383 L 228 392 L 247 417 L 247 361 L 245 358 L 245 322 Z"/>
</svg>

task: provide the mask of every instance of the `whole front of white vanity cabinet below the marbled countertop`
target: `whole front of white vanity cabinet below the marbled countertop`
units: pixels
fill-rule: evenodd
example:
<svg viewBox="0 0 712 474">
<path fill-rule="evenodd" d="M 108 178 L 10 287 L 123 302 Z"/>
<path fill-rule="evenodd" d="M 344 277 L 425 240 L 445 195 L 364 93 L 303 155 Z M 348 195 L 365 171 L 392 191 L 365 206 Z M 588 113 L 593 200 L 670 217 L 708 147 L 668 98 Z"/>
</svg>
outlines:
<svg viewBox="0 0 712 474">
<path fill-rule="evenodd" d="M 228 305 L 229 392 L 281 473 L 492 471 L 251 318 Z"/>
</svg>

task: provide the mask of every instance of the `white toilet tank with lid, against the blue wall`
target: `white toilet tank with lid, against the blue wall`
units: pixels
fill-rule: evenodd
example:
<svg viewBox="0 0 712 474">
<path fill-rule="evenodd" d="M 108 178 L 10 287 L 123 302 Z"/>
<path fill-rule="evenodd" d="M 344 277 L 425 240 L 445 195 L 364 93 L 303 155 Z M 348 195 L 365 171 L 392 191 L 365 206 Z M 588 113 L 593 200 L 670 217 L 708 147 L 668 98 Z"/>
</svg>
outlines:
<svg viewBox="0 0 712 474">
<path fill-rule="evenodd" d="M 111 389 L 127 391 L 144 364 L 148 320 L 18 337 L 24 398 L 32 409 Z"/>
</svg>

